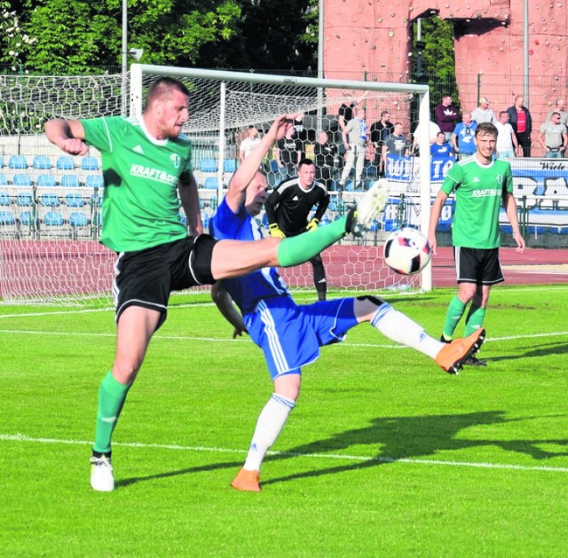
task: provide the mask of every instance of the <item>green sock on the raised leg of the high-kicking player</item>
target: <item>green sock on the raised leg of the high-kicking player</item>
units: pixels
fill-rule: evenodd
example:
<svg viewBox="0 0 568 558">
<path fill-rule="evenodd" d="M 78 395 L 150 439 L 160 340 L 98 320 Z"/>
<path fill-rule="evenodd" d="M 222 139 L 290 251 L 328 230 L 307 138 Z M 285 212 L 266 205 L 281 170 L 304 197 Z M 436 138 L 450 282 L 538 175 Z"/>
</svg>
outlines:
<svg viewBox="0 0 568 558">
<path fill-rule="evenodd" d="M 315 231 L 283 239 L 278 246 L 278 264 L 280 267 L 290 267 L 307 262 L 337 240 L 343 239 L 346 224 L 345 215 L 333 223 L 318 227 Z"/>
</svg>

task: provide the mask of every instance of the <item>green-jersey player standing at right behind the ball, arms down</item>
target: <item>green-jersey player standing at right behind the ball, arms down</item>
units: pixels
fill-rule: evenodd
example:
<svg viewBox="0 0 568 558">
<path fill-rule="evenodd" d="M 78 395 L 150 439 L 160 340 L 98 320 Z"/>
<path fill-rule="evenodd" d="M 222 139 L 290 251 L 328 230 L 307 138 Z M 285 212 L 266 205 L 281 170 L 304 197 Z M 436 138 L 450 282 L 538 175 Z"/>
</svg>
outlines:
<svg viewBox="0 0 568 558">
<path fill-rule="evenodd" d="M 493 159 L 498 131 L 490 122 L 477 126 L 477 151 L 458 161 L 449 170 L 430 213 L 428 240 L 436 254 L 436 226 L 447 197 L 455 194 L 452 224 L 455 271 L 458 293 L 450 302 L 442 341 L 450 342 L 454 330 L 469 303 L 465 334 L 483 326 L 491 287 L 504 281 L 499 263 L 499 212 L 501 202 L 513 229 L 517 252 L 525 249 L 517 218 L 517 202 L 513 196 L 513 177 L 508 161 Z M 465 364 L 485 365 L 471 357 Z"/>
</svg>

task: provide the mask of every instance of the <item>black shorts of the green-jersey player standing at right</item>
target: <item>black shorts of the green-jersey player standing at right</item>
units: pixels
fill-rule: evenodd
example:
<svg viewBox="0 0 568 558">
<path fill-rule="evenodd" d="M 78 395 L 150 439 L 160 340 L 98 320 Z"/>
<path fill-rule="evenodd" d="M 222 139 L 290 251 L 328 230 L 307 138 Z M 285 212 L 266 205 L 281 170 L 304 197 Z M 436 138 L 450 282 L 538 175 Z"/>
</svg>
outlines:
<svg viewBox="0 0 568 558">
<path fill-rule="evenodd" d="M 458 283 L 493 285 L 505 278 L 499 263 L 499 248 L 454 247 L 455 271 Z"/>
</svg>

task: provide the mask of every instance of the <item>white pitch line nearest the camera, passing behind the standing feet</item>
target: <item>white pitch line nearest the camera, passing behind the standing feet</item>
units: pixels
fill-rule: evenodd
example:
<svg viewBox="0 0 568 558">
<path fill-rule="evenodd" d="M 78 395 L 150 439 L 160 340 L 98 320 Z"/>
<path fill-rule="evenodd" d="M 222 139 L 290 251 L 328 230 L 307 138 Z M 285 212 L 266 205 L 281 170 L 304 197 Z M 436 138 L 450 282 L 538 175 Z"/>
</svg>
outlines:
<svg viewBox="0 0 568 558">
<path fill-rule="evenodd" d="M 58 438 L 34 438 L 24 434 L 0 434 L 0 441 L 4 442 L 28 442 L 36 444 L 66 444 L 66 445 L 92 445 L 86 440 L 62 440 Z M 230 448 L 207 447 L 201 445 L 177 445 L 177 444 L 141 444 L 138 442 L 113 442 L 114 446 L 175 450 L 181 452 L 211 452 L 211 453 L 236 453 L 243 454 L 247 450 L 233 450 Z M 268 455 L 282 457 L 302 457 L 314 460 L 344 460 L 359 461 L 367 463 L 376 461 L 377 463 L 407 463 L 410 465 L 439 465 L 443 467 L 466 467 L 466 468 L 485 468 L 485 469 L 506 469 L 514 471 L 545 471 L 548 473 L 568 473 L 568 467 L 549 467 L 547 465 L 514 465 L 509 463 L 476 463 L 473 461 L 446 461 L 446 460 L 413 460 L 409 458 L 394 457 L 366 457 L 363 455 L 345 455 L 343 453 L 294 453 L 294 452 L 268 452 Z"/>
</svg>

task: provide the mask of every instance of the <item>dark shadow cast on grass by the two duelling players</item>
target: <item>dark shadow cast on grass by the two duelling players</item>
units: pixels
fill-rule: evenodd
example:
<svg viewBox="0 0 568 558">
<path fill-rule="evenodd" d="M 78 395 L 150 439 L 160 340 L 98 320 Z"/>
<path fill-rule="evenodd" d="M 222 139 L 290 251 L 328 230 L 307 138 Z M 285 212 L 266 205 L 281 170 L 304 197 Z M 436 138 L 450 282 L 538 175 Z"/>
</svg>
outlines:
<svg viewBox="0 0 568 558">
<path fill-rule="evenodd" d="M 564 416 L 564 415 L 563 415 Z M 341 454 L 351 446 L 367 445 L 376 448 L 375 456 L 369 460 L 348 462 L 330 468 L 319 468 L 304 471 L 294 475 L 272 478 L 263 484 L 283 483 L 297 478 L 306 478 L 320 475 L 333 475 L 343 471 L 352 471 L 377 467 L 398 460 L 428 459 L 437 452 L 459 452 L 466 448 L 496 446 L 506 452 L 519 452 L 529 455 L 534 460 L 546 460 L 552 457 L 568 456 L 568 439 L 538 439 L 538 440 L 499 440 L 499 439 L 462 439 L 458 435 L 461 430 L 479 425 L 494 425 L 516 422 L 519 420 L 542 419 L 538 417 L 524 417 L 522 419 L 507 419 L 501 411 L 487 411 L 480 413 L 429 415 L 416 417 L 380 417 L 371 421 L 366 428 L 354 428 L 339 432 L 324 440 L 311 444 L 298 445 L 285 453 L 269 455 L 264 462 L 287 460 L 313 454 L 326 455 L 333 459 L 334 454 Z M 542 444 L 556 444 L 566 446 L 565 452 L 548 452 L 539 446 Z M 343 458 L 339 458 L 343 459 Z M 320 461 L 319 461 L 320 462 Z M 243 460 L 211 463 L 199 467 L 183 468 L 156 475 L 132 477 L 119 480 L 119 487 L 130 484 L 169 478 L 177 475 L 189 475 L 204 471 L 215 471 L 225 468 L 234 468 L 236 471 L 242 467 Z"/>
</svg>

